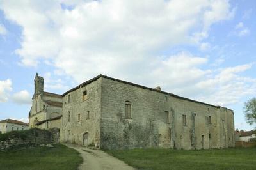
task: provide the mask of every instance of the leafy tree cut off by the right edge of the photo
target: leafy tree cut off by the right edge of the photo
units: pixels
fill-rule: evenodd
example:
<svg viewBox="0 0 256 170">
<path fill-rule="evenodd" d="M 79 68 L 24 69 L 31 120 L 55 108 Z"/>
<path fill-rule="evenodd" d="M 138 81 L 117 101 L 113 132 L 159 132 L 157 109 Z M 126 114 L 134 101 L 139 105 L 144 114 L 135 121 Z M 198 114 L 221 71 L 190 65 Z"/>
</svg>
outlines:
<svg viewBox="0 0 256 170">
<path fill-rule="evenodd" d="M 244 103 L 244 114 L 247 123 L 250 125 L 256 123 L 256 98 L 252 98 Z"/>
</svg>

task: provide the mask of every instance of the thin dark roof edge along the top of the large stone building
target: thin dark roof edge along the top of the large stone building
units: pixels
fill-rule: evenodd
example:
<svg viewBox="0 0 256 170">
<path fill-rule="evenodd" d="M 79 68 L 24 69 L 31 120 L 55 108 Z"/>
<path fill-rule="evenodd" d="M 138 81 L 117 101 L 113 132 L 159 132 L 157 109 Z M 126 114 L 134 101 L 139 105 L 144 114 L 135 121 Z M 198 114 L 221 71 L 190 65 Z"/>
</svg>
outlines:
<svg viewBox="0 0 256 170">
<path fill-rule="evenodd" d="M 105 78 L 105 79 L 109 79 L 109 80 L 112 80 L 112 81 L 122 82 L 122 83 L 124 83 L 124 84 L 129 84 L 129 85 L 131 85 L 131 86 L 137 86 L 137 87 L 139 87 L 139 88 L 148 89 L 148 90 L 150 90 L 150 91 L 157 91 L 157 92 L 163 93 L 163 94 L 165 94 L 165 95 L 170 95 L 170 96 L 172 96 L 172 97 L 180 98 L 180 99 L 183 99 L 183 100 L 188 100 L 188 101 L 191 101 L 191 102 L 196 102 L 196 103 L 198 103 L 198 104 L 205 104 L 205 105 L 209 105 L 209 106 L 216 107 L 216 108 L 220 108 L 220 107 L 221 107 L 221 106 L 211 105 L 211 104 L 207 104 L 207 103 L 204 103 L 204 102 L 199 102 L 199 101 L 196 101 L 196 100 L 192 100 L 192 99 L 190 99 L 190 98 L 180 97 L 180 96 L 178 96 L 178 95 L 174 95 L 174 94 L 172 94 L 172 93 L 168 93 L 168 92 L 165 92 L 165 91 L 159 91 L 159 90 L 154 89 L 154 88 L 148 88 L 148 87 L 146 87 L 146 86 L 141 86 L 140 84 L 135 84 L 135 83 L 132 83 L 132 82 L 122 81 L 122 80 L 120 80 L 120 79 L 115 79 L 115 78 L 108 77 L 108 76 L 102 75 L 102 74 L 100 74 L 100 75 L 98 75 L 98 76 L 96 76 L 96 77 L 94 77 L 94 78 L 92 78 L 92 79 L 90 79 L 90 80 L 88 80 L 88 81 L 86 81 L 86 82 L 83 82 L 82 84 L 79 84 L 79 85 L 76 86 L 75 88 L 72 88 L 72 89 L 66 91 L 65 93 L 63 93 L 62 96 L 64 97 L 64 96 L 67 95 L 68 93 L 70 93 L 70 92 L 72 92 L 72 91 L 75 91 L 76 89 L 79 89 L 80 87 L 86 86 L 87 84 L 90 84 L 91 82 L 97 81 L 97 79 L 99 79 L 100 77 L 103 77 L 103 78 Z M 226 108 L 226 107 L 223 107 L 223 108 L 228 109 L 228 108 Z M 231 110 L 231 109 L 228 109 L 228 110 Z M 231 110 L 231 111 L 232 111 L 232 110 Z"/>
</svg>

